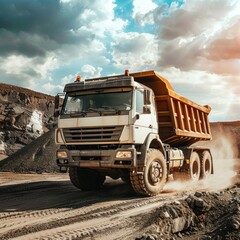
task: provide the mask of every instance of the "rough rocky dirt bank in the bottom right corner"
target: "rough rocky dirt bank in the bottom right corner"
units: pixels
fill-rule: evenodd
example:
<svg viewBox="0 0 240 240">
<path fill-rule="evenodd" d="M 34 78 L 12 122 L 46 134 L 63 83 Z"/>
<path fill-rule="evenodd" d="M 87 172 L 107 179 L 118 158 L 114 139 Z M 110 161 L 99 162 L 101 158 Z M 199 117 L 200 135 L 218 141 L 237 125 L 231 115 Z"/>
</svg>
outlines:
<svg viewBox="0 0 240 240">
<path fill-rule="evenodd" d="M 154 210 L 136 240 L 218 239 L 240 236 L 240 184 L 220 192 L 196 192 Z M 140 220 L 141 221 L 141 220 Z"/>
</svg>

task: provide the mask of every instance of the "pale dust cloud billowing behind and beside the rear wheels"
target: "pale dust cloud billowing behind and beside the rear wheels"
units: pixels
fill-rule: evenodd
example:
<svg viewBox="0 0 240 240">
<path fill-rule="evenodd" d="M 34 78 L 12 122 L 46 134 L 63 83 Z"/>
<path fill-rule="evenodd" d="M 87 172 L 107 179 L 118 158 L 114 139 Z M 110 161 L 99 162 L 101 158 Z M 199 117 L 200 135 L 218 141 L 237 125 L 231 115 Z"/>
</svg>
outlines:
<svg viewBox="0 0 240 240">
<path fill-rule="evenodd" d="M 201 145 L 210 148 L 213 157 L 214 174 L 196 182 L 174 181 L 166 184 L 165 191 L 221 191 L 235 183 L 237 177 L 237 146 L 232 134 L 226 134 L 219 129 L 211 142 L 202 142 Z M 198 144 L 200 146 L 200 144 Z"/>
</svg>

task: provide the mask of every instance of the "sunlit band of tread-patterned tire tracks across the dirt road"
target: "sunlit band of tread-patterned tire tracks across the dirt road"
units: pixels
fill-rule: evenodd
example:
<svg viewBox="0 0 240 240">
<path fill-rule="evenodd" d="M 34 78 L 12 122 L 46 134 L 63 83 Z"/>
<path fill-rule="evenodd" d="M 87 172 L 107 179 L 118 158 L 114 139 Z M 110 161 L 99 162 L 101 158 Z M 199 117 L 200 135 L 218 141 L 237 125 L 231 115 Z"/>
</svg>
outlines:
<svg viewBox="0 0 240 240">
<path fill-rule="evenodd" d="M 175 199 L 175 195 L 171 194 L 169 196 L 168 194 L 167 201 L 171 197 Z M 166 202 L 165 197 L 155 197 L 150 199 L 115 201 L 114 203 L 104 202 L 104 205 L 107 206 L 101 206 L 101 202 L 78 209 L 49 209 L 43 212 L 23 213 L 23 215 L 19 213 L 18 217 L 20 216 L 20 218 L 9 216 L 9 218 L 4 219 L 5 224 L 0 229 L 0 238 L 20 237 L 21 239 L 35 239 L 36 236 L 40 236 L 41 239 L 45 239 L 45 237 L 48 239 L 49 236 L 46 236 L 46 234 L 51 232 L 50 235 L 52 237 L 49 239 L 58 239 L 59 234 L 62 235 L 61 239 L 74 239 L 74 236 L 78 238 L 91 233 L 101 232 L 103 229 L 108 229 L 109 224 L 114 223 L 114 226 L 117 226 L 120 224 L 118 219 L 122 219 L 123 217 L 128 218 L 136 213 L 141 214 L 142 208 L 149 210 L 164 202 Z M 114 219 L 114 221 L 110 221 L 110 219 Z M 91 224 L 87 225 L 91 226 L 91 228 L 86 228 L 86 224 Z M 77 232 L 73 231 L 74 227 L 80 230 Z M 72 232 L 74 232 L 73 238 L 69 238 Z"/>
</svg>

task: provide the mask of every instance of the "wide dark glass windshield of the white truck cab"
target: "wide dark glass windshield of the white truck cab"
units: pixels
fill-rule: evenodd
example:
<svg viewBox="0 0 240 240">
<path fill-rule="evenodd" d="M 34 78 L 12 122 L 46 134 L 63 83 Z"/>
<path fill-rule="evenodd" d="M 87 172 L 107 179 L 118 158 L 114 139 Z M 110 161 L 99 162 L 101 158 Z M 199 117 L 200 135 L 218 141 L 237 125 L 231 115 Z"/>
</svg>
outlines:
<svg viewBox="0 0 240 240">
<path fill-rule="evenodd" d="M 79 95 L 67 94 L 62 108 L 62 114 L 128 114 L 132 109 L 132 90 L 121 89 L 113 90 L 96 90 L 96 92 L 80 93 Z"/>
</svg>

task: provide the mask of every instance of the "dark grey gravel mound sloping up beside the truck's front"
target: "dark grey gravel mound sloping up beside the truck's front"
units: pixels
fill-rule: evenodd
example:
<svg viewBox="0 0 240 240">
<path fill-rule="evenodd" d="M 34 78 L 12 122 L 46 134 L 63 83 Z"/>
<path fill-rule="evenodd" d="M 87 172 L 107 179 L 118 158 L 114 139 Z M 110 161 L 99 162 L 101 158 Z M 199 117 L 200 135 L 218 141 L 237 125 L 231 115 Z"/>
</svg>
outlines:
<svg viewBox="0 0 240 240">
<path fill-rule="evenodd" d="M 54 129 L 0 161 L 0 171 L 57 172 Z"/>
</svg>

